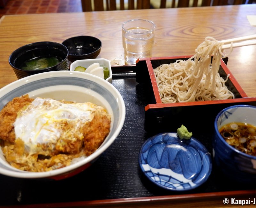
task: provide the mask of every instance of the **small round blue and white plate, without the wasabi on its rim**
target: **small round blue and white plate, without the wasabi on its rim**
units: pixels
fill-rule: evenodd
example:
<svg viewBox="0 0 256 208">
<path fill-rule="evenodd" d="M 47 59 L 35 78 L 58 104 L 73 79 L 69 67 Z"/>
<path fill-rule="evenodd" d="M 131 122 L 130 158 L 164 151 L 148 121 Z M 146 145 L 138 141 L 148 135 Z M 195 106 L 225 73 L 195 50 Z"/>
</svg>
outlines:
<svg viewBox="0 0 256 208">
<path fill-rule="evenodd" d="M 193 137 L 180 140 L 174 132 L 149 138 L 140 150 L 139 163 L 149 180 L 173 191 L 202 185 L 212 171 L 211 154 L 204 145 Z"/>
</svg>

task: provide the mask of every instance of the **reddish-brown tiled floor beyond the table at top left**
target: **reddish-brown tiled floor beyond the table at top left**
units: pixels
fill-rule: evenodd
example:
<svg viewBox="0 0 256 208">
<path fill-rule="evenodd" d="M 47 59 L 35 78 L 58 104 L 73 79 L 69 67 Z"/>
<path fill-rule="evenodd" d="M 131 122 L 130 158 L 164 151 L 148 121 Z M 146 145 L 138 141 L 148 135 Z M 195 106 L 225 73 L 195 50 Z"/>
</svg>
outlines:
<svg viewBox="0 0 256 208">
<path fill-rule="evenodd" d="M 9 0 L 0 8 L 0 18 L 7 14 L 82 12 L 81 0 Z"/>
</svg>

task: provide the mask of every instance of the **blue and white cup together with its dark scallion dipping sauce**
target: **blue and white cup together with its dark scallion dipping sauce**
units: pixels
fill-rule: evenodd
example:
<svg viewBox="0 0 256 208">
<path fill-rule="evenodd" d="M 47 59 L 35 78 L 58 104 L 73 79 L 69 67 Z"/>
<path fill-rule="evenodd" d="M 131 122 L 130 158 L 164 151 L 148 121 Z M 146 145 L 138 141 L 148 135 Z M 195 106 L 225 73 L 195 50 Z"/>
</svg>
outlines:
<svg viewBox="0 0 256 208">
<path fill-rule="evenodd" d="M 242 130 L 234 127 L 234 124 L 246 124 L 256 126 L 256 107 L 250 105 L 235 105 L 230 106 L 216 116 L 214 123 L 214 139 L 213 139 L 213 157 L 214 161 L 220 170 L 227 175 L 229 179 L 234 180 L 236 183 L 252 184 L 256 182 L 256 156 L 246 154 L 244 150 L 248 149 L 248 144 L 255 148 L 256 143 L 255 130 L 253 128 L 243 128 Z M 233 124 L 233 125 L 231 125 Z M 220 133 L 222 127 L 225 126 L 226 132 L 234 133 Z M 252 132 L 252 138 L 249 133 Z M 244 137 L 247 135 L 247 138 Z M 249 137 L 250 136 L 250 137 Z M 224 139 L 231 142 L 232 145 Z M 238 140 L 241 143 L 238 147 L 242 146 L 242 150 L 238 150 L 237 143 L 234 142 L 235 137 L 240 137 Z M 245 141 L 247 139 L 247 141 Z M 234 140 L 234 141 L 233 141 Z M 238 143 L 238 144 L 239 144 Z M 236 148 L 235 148 L 236 147 Z M 245 149 L 246 148 L 246 149 Z M 249 152 L 248 152 L 249 153 Z"/>
</svg>

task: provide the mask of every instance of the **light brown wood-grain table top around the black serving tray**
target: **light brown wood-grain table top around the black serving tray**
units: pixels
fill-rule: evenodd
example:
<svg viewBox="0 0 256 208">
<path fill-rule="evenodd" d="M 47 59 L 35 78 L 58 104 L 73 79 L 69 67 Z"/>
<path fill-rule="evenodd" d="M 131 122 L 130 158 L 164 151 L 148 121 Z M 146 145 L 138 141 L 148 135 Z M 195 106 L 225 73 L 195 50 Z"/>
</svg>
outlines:
<svg viewBox="0 0 256 208">
<path fill-rule="evenodd" d="M 31 15 L 9 15 L 0 20 L 0 88 L 17 80 L 8 63 L 9 55 L 16 48 L 37 41 L 63 40 L 80 35 L 98 37 L 102 41 L 101 58 L 118 63 L 122 59 L 121 25 L 129 19 L 148 19 L 156 24 L 153 57 L 193 55 L 198 44 L 206 36 L 217 40 L 252 35 L 256 27 L 251 26 L 246 15 L 256 14 L 256 4 L 236 6 L 197 7 L 179 9 L 149 9 L 132 11 L 108 11 L 86 13 L 52 13 Z M 248 97 L 256 97 L 256 45 L 235 48 L 229 55 L 228 68 L 242 86 Z M 255 192 L 242 192 L 255 197 Z M 229 192 L 227 196 L 236 193 Z M 234 207 L 223 204 L 220 193 L 207 198 L 186 195 L 156 198 L 121 199 L 118 201 L 81 202 L 76 204 L 58 204 L 48 207 L 73 206 L 109 206 L 109 207 Z M 244 196 L 236 196 L 242 199 Z M 230 197 L 229 197 L 230 199 Z M 124 204 L 123 202 L 131 202 Z M 107 205 L 111 203 L 110 205 Z M 121 205 L 120 205 L 121 203 Z M 105 204 L 105 205 L 104 205 Z M 252 207 L 253 205 L 248 205 Z M 28 206 L 26 206 L 28 207 Z M 38 206 L 40 207 L 40 206 Z M 44 207 L 42 205 L 42 207 Z M 244 205 L 244 207 L 246 207 Z"/>
</svg>

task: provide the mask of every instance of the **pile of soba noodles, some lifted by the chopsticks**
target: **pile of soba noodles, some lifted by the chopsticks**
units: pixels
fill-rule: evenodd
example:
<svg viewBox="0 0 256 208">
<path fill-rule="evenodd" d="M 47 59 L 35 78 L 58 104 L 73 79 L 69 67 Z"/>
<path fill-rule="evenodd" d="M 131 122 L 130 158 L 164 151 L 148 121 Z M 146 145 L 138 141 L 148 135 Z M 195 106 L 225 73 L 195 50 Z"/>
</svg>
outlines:
<svg viewBox="0 0 256 208">
<path fill-rule="evenodd" d="M 162 64 L 155 68 L 154 73 L 162 102 L 234 98 L 234 94 L 225 85 L 227 80 L 218 73 L 220 59 L 227 57 L 232 51 L 231 47 L 230 52 L 225 55 L 221 51 L 222 45 L 222 42 L 213 37 L 206 37 L 196 48 L 196 54 L 188 60 L 177 60 L 175 63 Z"/>
</svg>

